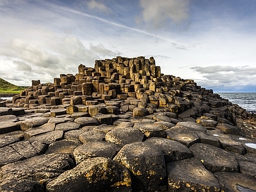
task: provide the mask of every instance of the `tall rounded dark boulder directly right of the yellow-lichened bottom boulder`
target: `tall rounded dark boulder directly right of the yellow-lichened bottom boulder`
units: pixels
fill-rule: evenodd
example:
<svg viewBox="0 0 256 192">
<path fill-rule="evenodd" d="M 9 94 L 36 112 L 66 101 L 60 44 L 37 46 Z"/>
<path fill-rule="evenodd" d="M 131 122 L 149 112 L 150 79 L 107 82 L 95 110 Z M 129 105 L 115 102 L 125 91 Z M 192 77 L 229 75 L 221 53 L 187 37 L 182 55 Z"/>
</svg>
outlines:
<svg viewBox="0 0 256 192">
<path fill-rule="evenodd" d="M 145 142 L 127 144 L 114 160 L 132 173 L 132 190 L 167 191 L 163 184 L 166 179 L 164 156 L 158 147 Z"/>
</svg>

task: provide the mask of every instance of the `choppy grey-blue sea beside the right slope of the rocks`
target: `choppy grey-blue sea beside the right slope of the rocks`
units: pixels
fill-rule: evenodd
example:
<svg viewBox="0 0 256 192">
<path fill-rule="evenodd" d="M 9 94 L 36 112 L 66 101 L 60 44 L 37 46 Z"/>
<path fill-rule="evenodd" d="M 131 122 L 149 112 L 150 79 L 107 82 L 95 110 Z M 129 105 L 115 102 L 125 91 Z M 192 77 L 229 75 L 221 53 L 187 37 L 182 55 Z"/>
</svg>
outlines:
<svg viewBox="0 0 256 192">
<path fill-rule="evenodd" d="M 222 98 L 239 105 L 248 112 L 256 113 L 256 93 L 218 93 Z"/>
</svg>

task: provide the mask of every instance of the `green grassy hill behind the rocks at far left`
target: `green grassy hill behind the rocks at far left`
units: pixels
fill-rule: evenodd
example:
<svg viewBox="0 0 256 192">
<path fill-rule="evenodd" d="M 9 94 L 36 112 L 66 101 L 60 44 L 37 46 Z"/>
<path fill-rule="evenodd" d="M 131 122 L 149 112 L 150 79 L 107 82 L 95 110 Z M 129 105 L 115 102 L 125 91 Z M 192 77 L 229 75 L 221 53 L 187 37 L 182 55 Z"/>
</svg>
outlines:
<svg viewBox="0 0 256 192">
<path fill-rule="evenodd" d="M 17 86 L 0 78 L 0 93 L 19 94 L 26 86 Z"/>
</svg>

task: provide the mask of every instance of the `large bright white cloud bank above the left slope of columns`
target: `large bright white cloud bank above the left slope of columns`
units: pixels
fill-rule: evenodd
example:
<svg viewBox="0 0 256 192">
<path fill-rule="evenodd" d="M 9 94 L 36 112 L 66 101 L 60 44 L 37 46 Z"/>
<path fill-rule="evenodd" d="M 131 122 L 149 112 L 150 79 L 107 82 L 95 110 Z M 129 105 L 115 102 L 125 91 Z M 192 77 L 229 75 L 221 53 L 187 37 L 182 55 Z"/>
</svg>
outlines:
<svg viewBox="0 0 256 192">
<path fill-rule="evenodd" d="M 60 74 L 76 74 L 80 63 L 93 67 L 94 61 L 102 58 L 113 58 L 120 54 L 106 49 L 103 44 L 90 44 L 89 49 L 76 36 L 60 37 L 52 34 L 44 42 L 26 41 L 21 38 L 10 40 L 9 44 L 0 47 L 0 55 L 12 66 L 11 73 L 16 76 L 1 74 L 6 80 L 18 84 L 30 85 L 32 79 L 41 82 L 52 82 Z M 44 48 L 43 48 L 44 47 Z M 8 61 L 7 61 L 8 60 Z"/>
</svg>

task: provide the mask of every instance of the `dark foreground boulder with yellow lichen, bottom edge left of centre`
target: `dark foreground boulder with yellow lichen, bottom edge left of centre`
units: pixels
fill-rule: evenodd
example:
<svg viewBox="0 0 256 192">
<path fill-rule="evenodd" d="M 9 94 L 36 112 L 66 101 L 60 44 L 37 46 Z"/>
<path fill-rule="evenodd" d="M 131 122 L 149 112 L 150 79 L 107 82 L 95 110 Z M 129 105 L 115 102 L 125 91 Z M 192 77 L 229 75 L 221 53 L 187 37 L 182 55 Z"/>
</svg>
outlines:
<svg viewBox="0 0 256 192">
<path fill-rule="evenodd" d="M 122 165 L 105 157 L 78 164 L 49 182 L 47 191 L 132 191 L 131 174 Z"/>
</svg>

